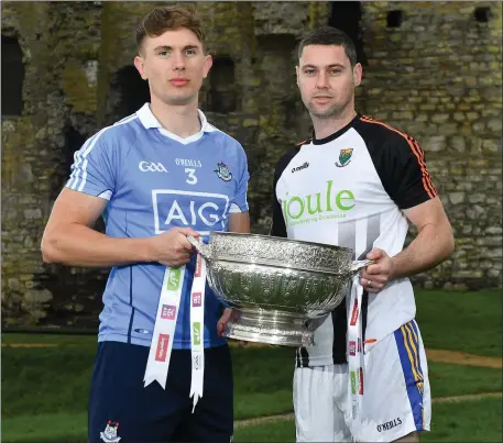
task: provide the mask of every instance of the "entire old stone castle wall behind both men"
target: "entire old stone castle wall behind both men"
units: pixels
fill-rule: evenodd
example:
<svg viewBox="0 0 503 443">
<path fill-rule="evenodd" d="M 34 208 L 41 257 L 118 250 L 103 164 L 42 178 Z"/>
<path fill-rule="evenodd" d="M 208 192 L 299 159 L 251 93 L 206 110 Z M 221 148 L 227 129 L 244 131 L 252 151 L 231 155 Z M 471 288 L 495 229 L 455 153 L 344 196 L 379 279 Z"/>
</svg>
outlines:
<svg viewBox="0 0 503 443">
<path fill-rule="evenodd" d="M 44 265 L 40 241 L 74 152 L 144 98 L 133 31 L 154 4 L 2 2 L 2 45 L 15 37 L 24 66 L 22 113 L 2 114 L 4 326 L 96 324 L 107 272 Z M 337 2 L 197 8 L 216 57 L 201 108 L 243 144 L 252 229 L 266 233 L 274 164 L 310 131 L 295 85 L 296 46 L 345 11 Z M 488 8 L 486 22 L 475 8 Z M 402 12 L 400 26 L 387 23 L 392 11 Z M 419 142 L 457 239 L 452 259 L 415 284 L 501 287 L 501 3 L 362 2 L 359 26 L 358 108 Z"/>
</svg>

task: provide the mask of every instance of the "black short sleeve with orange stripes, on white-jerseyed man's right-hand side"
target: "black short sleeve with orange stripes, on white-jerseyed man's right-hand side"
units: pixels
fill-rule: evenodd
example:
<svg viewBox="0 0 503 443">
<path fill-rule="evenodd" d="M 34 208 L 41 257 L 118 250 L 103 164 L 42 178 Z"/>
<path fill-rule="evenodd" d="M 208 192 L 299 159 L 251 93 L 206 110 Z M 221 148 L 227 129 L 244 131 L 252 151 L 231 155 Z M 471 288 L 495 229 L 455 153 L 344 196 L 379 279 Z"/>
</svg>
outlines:
<svg viewBox="0 0 503 443">
<path fill-rule="evenodd" d="M 425 153 L 408 135 L 389 142 L 379 169 L 386 192 L 400 209 L 412 208 L 438 196 L 426 167 Z"/>
</svg>

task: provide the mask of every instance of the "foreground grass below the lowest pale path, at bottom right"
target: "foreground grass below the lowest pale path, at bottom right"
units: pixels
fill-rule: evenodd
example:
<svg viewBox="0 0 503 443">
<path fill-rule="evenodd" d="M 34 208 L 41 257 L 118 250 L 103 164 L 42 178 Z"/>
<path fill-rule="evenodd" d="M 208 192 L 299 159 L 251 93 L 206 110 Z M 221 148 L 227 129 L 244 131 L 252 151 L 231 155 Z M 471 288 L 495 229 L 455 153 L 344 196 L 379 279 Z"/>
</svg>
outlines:
<svg viewBox="0 0 503 443">
<path fill-rule="evenodd" d="M 502 402 L 497 398 L 433 405 L 431 431 L 422 442 L 501 442 Z M 238 428 L 234 442 L 295 442 L 293 420 Z"/>
</svg>

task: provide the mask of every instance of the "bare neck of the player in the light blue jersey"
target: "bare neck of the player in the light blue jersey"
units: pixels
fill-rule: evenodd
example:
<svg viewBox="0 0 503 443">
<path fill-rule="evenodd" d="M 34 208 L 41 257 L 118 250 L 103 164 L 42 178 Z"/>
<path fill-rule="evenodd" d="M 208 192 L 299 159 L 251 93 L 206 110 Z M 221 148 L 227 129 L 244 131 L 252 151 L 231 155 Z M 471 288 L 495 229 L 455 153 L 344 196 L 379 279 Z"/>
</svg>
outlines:
<svg viewBox="0 0 503 443">
<path fill-rule="evenodd" d="M 152 97 L 150 109 L 166 131 L 182 139 L 197 134 L 201 129 L 197 101 L 185 106 L 170 106 Z"/>
</svg>

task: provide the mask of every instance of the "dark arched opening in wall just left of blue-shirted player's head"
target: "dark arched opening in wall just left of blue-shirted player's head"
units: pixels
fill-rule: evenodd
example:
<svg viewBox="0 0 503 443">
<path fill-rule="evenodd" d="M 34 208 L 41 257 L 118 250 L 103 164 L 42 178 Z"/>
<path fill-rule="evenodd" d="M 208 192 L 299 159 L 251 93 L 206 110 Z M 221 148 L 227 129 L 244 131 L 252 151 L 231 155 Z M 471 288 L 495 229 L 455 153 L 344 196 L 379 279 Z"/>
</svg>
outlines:
<svg viewBox="0 0 503 443">
<path fill-rule="evenodd" d="M 150 102 L 149 82 L 143 80 L 134 66 L 119 69 L 110 82 L 109 115 L 117 122 L 136 112 L 145 102 Z"/>
</svg>

